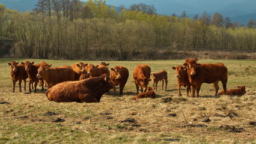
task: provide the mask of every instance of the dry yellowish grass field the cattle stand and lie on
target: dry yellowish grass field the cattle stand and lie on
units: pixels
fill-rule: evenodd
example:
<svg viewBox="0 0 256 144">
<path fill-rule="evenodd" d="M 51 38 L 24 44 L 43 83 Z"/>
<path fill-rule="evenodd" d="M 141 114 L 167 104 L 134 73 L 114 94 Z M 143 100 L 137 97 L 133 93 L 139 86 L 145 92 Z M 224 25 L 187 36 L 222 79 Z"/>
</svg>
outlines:
<svg viewBox="0 0 256 144">
<path fill-rule="evenodd" d="M 124 95 L 113 95 L 111 90 L 100 103 L 56 103 L 47 100 L 46 91 L 39 88 L 37 94 L 26 94 L 28 86 L 19 92 L 16 83 L 16 92 L 11 92 L 8 62 L 13 60 L 46 61 L 53 67 L 80 62 L 0 59 L 0 143 L 256 143 L 256 61 L 198 61 L 224 63 L 227 89 L 245 85 L 247 92 L 242 97 L 213 96 L 213 85 L 206 83 L 199 98 L 186 97 L 184 87 L 183 96 L 178 97 L 171 67 L 182 65 L 184 60 L 108 61 L 109 68 L 124 65 L 129 70 Z M 156 99 L 132 100 L 136 96 L 133 68 L 138 64 L 148 64 L 151 73 L 166 70 L 167 91 L 160 90 L 159 83 Z M 221 82 L 219 87 L 222 91 Z M 62 122 L 54 122 L 58 118 Z M 203 122 L 207 118 L 210 121 Z"/>
</svg>

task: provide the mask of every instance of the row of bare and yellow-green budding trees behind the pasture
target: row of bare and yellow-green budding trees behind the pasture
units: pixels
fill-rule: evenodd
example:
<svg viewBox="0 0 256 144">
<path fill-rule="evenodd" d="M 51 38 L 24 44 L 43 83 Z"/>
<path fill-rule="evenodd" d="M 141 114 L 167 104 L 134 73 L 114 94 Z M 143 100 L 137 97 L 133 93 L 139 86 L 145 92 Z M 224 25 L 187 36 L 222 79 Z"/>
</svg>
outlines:
<svg viewBox="0 0 256 144">
<path fill-rule="evenodd" d="M 193 19 L 185 11 L 160 16 L 153 5 L 115 10 L 102 0 L 39 0 L 35 6 L 19 13 L 0 4 L 0 40 L 13 39 L 28 58 L 126 60 L 149 46 L 256 50 L 255 20 L 240 26 L 206 11 Z"/>
</svg>

